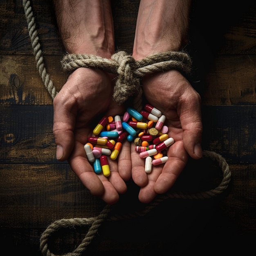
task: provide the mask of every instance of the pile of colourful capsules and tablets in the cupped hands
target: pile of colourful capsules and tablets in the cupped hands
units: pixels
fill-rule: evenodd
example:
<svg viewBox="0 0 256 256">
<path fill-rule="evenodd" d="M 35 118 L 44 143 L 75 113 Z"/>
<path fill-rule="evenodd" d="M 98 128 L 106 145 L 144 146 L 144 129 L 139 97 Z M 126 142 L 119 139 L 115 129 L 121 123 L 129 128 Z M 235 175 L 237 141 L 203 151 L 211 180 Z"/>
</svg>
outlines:
<svg viewBox="0 0 256 256">
<path fill-rule="evenodd" d="M 102 171 L 106 177 L 110 175 L 107 156 L 116 160 L 125 139 L 133 142 L 139 157 L 145 159 L 146 173 L 152 171 L 152 166 L 166 163 L 166 149 L 174 140 L 167 134 L 165 119 L 162 112 L 150 104 L 146 104 L 141 112 L 127 108 L 123 116 L 103 117 L 84 145 L 94 172 Z"/>
</svg>

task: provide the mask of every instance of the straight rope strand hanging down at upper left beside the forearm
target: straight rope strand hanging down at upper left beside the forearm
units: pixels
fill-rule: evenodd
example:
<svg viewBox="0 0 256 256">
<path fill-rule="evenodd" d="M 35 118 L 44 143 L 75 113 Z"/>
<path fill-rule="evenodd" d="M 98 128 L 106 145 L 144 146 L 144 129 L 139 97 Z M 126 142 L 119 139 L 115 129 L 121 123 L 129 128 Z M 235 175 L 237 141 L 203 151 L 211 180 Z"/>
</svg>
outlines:
<svg viewBox="0 0 256 256">
<path fill-rule="evenodd" d="M 37 36 L 38 31 L 36 29 L 36 23 L 34 19 L 34 14 L 32 8 L 30 6 L 29 0 L 23 0 L 23 7 L 25 11 L 25 16 L 28 25 L 29 37 L 31 39 L 32 48 L 34 50 L 33 54 L 36 58 L 36 67 L 39 71 L 41 79 L 45 84 L 45 88 L 48 90 L 49 94 L 51 95 L 52 99 L 57 95 L 56 88 L 52 83 L 52 79 L 50 78 L 49 74 L 46 72 L 44 59 L 41 51 L 41 45 L 39 43 L 39 38 Z"/>
</svg>

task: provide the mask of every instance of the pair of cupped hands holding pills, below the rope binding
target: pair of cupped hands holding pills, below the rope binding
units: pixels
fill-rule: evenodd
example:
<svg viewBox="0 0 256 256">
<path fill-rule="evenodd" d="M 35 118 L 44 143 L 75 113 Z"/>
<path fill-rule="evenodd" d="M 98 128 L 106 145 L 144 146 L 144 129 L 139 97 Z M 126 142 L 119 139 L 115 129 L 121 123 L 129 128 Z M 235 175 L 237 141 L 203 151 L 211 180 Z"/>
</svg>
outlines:
<svg viewBox="0 0 256 256">
<path fill-rule="evenodd" d="M 126 181 L 141 187 L 139 200 L 152 201 L 165 193 L 177 180 L 189 156 L 202 157 L 201 99 L 190 83 L 176 70 L 157 72 L 142 80 L 144 96 L 150 105 L 165 116 L 168 135 L 175 143 L 168 148 L 168 161 L 145 172 L 145 159 L 139 157 L 135 145 L 122 143 L 117 160 L 109 158 L 111 174 L 94 173 L 83 146 L 92 135 L 92 121 L 104 116 L 122 115 L 126 109 L 112 100 L 113 76 L 101 70 L 76 69 L 54 98 L 53 133 L 57 145 L 56 157 L 68 160 L 70 167 L 92 195 L 108 204 L 119 200 L 127 190 Z"/>
</svg>

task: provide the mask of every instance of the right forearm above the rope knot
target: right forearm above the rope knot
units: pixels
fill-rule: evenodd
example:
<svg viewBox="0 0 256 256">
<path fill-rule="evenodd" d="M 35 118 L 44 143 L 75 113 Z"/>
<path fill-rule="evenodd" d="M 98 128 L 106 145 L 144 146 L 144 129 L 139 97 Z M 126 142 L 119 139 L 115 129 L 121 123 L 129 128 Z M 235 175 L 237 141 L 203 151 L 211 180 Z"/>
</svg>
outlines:
<svg viewBox="0 0 256 256">
<path fill-rule="evenodd" d="M 141 0 L 132 55 L 179 51 L 189 28 L 191 0 Z"/>
</svg>

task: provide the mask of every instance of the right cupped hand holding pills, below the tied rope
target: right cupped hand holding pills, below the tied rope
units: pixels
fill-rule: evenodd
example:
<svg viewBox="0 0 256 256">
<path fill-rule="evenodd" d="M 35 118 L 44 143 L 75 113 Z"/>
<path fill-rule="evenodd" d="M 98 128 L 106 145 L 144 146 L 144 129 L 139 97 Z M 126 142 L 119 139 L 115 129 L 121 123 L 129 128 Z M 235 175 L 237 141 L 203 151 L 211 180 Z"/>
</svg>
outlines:
<svg viewBox="0 0 256 256">
<path fill-rule="evenodd" d="M 175 141 L 167 149 L 168 161 L 153 166 L 149 174 L 145 172 L 145 159 L 141 159 L 131 146 L 132 179 L 141 186 L 139 200 L 148 203 L 173 186 L 189 156 L 202 157 L 201 98 L 176 70 L 147 75 L 142 85 L 148 103 L 166 116 L 168 136 Z"/>
</svg>

